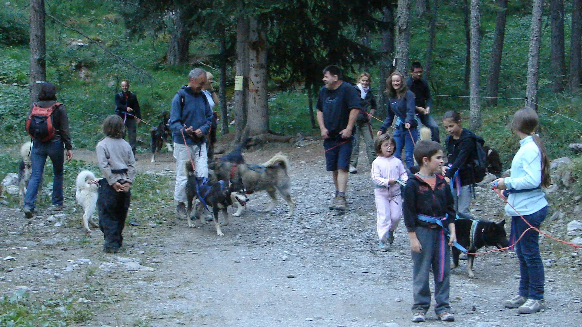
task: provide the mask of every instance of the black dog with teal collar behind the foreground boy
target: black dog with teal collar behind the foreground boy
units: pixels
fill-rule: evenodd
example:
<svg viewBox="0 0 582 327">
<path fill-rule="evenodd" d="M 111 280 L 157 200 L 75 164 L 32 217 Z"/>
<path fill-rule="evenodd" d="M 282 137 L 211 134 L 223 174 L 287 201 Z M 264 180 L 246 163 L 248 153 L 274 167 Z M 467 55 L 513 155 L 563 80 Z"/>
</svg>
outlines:
<svg viewBox="0 0 582 327">
<path fill-rule="evenodd" d="M 475 253 L 484 246 L 495 246 L 503 248 L 509 246 L 509 241 L 505 233 L 505 219 L 501 222 L 477 221 L 471 216 L 457 214 L 459 218 L 455 220 L 455 230 L 457 243 L 461 244 L 470 253 Z M 472 235 L 471 235 L 472 234 Z M 459 255 L 461 251 L 453 247 L 453 266 L 459 266 Z M 469 278 L 475 278 L 473 273 L 473 261 L 475 255 L 467 254 L 467 271 Z"/>
</svg>

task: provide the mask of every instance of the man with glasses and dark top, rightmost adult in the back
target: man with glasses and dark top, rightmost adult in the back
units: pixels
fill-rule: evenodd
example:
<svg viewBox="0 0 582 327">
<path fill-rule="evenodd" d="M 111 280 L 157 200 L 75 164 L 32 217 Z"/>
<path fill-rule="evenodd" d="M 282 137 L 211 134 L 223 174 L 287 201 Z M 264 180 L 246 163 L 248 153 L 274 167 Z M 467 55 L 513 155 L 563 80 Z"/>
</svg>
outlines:
<svg viewBox="0 0 582 327">
<path fill-rule="evenodd" d="M 410 67 L 410 77 L 406 80 L 408 88 L 416 98 L 416 112 L 418 118 L 424 126 L 427 126 L 432 133 L 432 140 L 440 143 L 438 135 L 438 125 L 434 118 L 431 117 L 432 97 L 431 89 L 428 87 L 427 80 L 423 79 L 423 66 L 420 62 L 413 62 Z"/>
</svg>

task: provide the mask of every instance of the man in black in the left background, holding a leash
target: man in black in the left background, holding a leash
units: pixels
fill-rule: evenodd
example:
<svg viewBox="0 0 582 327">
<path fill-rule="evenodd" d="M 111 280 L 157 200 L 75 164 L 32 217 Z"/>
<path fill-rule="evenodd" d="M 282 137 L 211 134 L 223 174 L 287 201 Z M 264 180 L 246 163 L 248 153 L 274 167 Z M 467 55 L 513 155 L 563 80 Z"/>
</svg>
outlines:
<svg viewBox="0 0 582 327">
<path fill-rule="evenodd" d="M 129 81 L 121 82 L 121 92 L 115 94 L 115 113 L 123 119 L 127 129 L 127 140 L 132 146 L 133 155 L 136 155 L 137 125 L 141 119 L 140 104 L 137 96 L 129 91 Z"/>
</svg>

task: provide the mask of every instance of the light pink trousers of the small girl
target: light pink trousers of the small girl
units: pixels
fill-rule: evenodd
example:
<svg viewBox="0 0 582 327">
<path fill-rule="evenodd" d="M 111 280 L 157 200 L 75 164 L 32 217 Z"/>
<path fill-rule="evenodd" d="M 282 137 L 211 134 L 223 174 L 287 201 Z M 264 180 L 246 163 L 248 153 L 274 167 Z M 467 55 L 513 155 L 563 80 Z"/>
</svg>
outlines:
<svg viewBox="0 0 582 327">
<path fill-rule="evenodd" d="M 377 229 L 379 240 L 386 240 L 386 235 L 398 227 L 402 218 L 402 197 L 392 196 L 387 189 L 374 189 L 376 197 Z"/>
</svg>

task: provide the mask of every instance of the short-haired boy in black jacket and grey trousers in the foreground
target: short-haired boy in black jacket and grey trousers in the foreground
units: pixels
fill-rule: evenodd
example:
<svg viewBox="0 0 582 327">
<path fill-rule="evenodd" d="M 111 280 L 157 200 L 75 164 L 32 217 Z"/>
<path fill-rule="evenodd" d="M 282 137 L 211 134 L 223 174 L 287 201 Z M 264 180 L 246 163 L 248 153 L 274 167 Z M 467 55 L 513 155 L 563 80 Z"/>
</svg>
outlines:
<svg viewBox="0 0 582 327">
<path fill-rule="evenodd" d="M 444 162 L 441 145 L 434 141 L 419 141 L 414 147 L 414 159 L 420 170 L 409 177 L 404 187 L 402 206 L 414 266 L 412 321 L 425 321 L 424 315 L 431 304 L 428 286 L 431 268 L 435 280 L 437 318 L 454 321 L 455 318 L 449 313 L 449 246 L 457 239 L 456 214 L 448 183 L 444 177 L 435 174 L 441 171 Z"/>
</svg>

